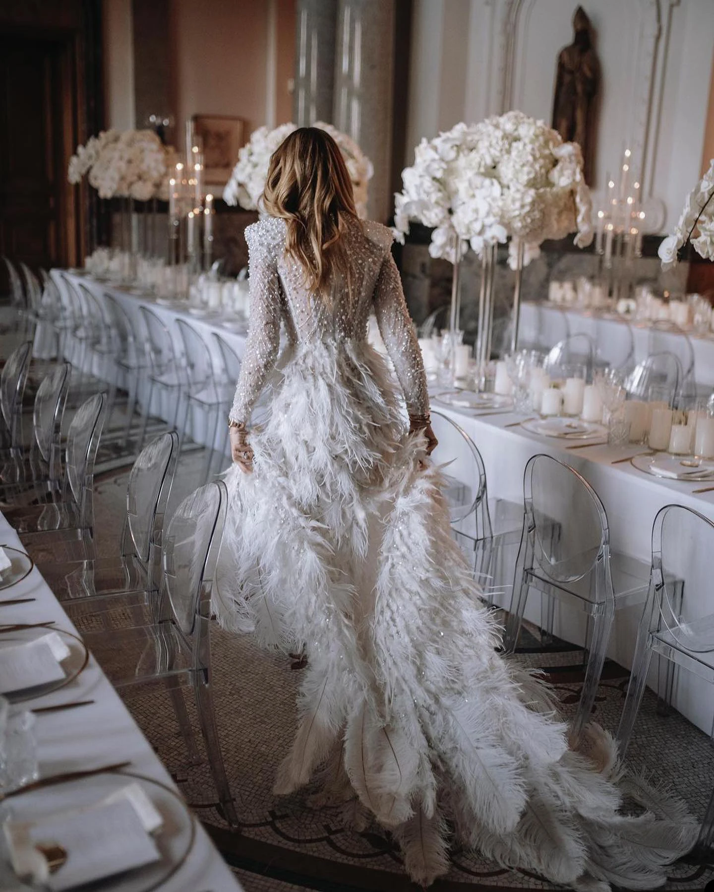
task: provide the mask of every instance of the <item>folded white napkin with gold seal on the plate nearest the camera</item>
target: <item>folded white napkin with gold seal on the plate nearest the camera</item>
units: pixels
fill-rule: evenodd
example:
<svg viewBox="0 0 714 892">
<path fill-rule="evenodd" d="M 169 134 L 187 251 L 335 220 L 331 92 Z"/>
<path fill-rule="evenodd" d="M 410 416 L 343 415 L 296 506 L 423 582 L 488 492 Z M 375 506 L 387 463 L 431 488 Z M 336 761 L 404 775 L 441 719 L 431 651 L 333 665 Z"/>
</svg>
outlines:
<svg viewBox="0 0 714 892">
<path fill-rule="evenodd" d="M 94 805 L 4 823 L 12 869 L 53 892 L 135 870 L 160 859 L 150 834 L 162 818 L 140 784 L 127 784 Z M 67 860 L 50 874 L 37 846 L 60 846 Z"/>
</svg>

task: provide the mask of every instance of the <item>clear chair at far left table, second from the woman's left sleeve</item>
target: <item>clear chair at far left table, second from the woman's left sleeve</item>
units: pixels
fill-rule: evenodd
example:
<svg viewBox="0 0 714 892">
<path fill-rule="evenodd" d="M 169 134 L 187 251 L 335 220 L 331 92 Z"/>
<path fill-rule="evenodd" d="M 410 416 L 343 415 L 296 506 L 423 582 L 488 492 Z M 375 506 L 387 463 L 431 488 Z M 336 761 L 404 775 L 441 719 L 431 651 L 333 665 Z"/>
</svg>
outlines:
<svg viewBox="0 0 714 892">
<path fill-rule="evenodd" d="M 213 464 L 213 456 L 216 452 L 216 438 L 218 434 L 218 422 L 221 417 L 224 421 L 227 416 L 226 409 L 233 403 L 235 384 L 217 384 L 213 373 L 213 362 L 210 358 L 208 345 L 201 335 L 183 319 L 176 319 L 176 328 L 181 335 L 184 345 L 184 356 L 181 366 L 184 370 L 185 380 L 185 413 L 182 430 L 184 434 L 193 433 L 198 426 L 201 415 L 195 414 L 198 410 L 204 418 L 213 417 L 213 424 L 201 425 L 209 431 L 207 447 L 206 470 L 204 479 L 208 480 L 210 468 Z M 191 427 L 189 427 L 189 418 Z"/>
</svg>

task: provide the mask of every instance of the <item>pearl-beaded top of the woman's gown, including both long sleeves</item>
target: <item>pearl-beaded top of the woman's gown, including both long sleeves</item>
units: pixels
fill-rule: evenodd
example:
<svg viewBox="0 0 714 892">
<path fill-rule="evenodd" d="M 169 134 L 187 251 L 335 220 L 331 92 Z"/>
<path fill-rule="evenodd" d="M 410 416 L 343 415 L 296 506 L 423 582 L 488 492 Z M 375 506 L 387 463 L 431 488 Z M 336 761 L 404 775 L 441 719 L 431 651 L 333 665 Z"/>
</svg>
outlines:
<svg viewBox="0 0 714 892">
<path fill-rule="evenodd" d="M 315 341 L 339 349 L 344 343 L 366 342 L 371 313 L 377 318 L 409 414 L 428 413 L 422 353 L 390 253 L 392 235 L 387 227 L 372 221 L 349 227 L 343 236 L 350 263 L 349 286 L 346 281 L 333 283 L 329 301 L 308 291 L 300 262 L 285 254 L 282 219 L 260 220 L 246 228 L 245 237 L 250 252 L 250 332 L 231 419 L 249 421 L 275 368 L 281 323 L 289 343 L 298 349 Z"/>
</svg>

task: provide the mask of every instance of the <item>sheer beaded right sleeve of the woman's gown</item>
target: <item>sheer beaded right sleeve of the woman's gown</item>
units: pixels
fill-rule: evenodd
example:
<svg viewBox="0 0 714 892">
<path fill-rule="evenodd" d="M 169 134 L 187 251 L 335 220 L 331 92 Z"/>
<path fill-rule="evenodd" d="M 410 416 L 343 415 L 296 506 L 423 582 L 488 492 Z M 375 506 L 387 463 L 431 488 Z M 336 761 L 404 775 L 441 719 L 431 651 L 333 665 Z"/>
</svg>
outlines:
<svg viewBox="0 0 714 892">
<path fill-rule="evenodd" d="M 406 409 L 409 415 L 428 415 L 429 394 L 422 351 L 414 334 L 409 310 L 406 309 L 397 264 L 390 253 L 382 261 L 373 301 L 382 340 L 404 391 Z"/>
</svg>

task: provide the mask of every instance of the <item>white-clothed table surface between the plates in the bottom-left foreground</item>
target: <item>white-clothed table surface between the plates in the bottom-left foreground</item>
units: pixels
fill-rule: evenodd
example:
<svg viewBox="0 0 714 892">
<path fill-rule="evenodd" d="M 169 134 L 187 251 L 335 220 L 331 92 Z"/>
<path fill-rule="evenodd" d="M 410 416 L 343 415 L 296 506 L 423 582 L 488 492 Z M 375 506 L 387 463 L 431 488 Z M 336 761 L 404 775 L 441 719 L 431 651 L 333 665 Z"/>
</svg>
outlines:
<svg viewBox="0 0 714 892">
<path fill-rule="evenodd" d="M 24 550 L 17 533 L 2 515 L 0 537 L 4 545 Z M 34 598 L 35 601 L 4 606 L 3 624 L 53 622 L 55 628 L 77 633 L 37 566 L 24 580 L 15 583 L 12 589 L 4 590 L 4 594 L 11 591 L 12 599 Z M 94 703 L 67 711 L 37 715 L 35 730 L 41 778 L 62 772 L 130 762 L 127 771 L 158 780 L 176 789 L 167 770 L 154 754 L 94 657 L 90 657 L 85 670 L 69 685 L 41 698 L 25 701 L 21 706 L 34 709 L 85 699 L 92 699 Z M 130 780 L 131 778 L 127 778 L 127 782 Z M 87 784 L 92 782 L 92 778 L 84 781 Z M 71 801 L 62 802 L 61 790 L 56 787 L 47 788 L 48 797 L 51 795 L 52 798 L 53 810 L 55 806 L 60 809 L 72 806 Z M 202 892 L 204 889 L 207 892 L 229 892 L 234 889 L 240 892 L 238 881 L 201 824 L 194 820 L 197 827 L 192 850 L 179 870 L 160 886 L 161 892 L 186 892 L 187 889 L 195 892 Z M 141 880 L 137 878 L 135 885 L 127 880 L 127 885 L 122 888 L 140 889 Z"/>
</svg>

